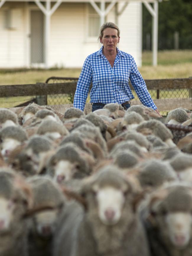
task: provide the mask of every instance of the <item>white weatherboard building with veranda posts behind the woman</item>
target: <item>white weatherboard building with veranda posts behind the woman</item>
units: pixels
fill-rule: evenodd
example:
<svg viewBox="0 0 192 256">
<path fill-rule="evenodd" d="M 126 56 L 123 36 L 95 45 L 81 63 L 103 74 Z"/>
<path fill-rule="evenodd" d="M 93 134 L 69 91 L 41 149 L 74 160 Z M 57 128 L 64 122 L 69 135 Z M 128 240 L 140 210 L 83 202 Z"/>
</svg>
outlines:
<svg viewBox="0 0 192 256">
<path fill-rule="evenodd" d="M 156 61 L 158 1 L 1 0 L 0 68 L 81 68 L 87 55 L 102 46 L 97 37 L 105 21 L 119 26 L 118 47 L 141 66 L 142 2 L 154 17 Z"/>
</svg>

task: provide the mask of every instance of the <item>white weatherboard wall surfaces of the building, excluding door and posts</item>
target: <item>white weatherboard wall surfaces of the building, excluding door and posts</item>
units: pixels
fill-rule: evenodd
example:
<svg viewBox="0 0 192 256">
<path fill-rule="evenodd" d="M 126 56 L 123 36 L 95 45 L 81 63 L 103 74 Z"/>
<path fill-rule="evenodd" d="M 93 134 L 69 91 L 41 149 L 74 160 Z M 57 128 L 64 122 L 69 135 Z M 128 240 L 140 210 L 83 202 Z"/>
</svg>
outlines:
<svg viewBox="0 0 192 256">
<path fill-rule="evenodd" d="M 118 8 L 122 8 L 122 3 Z M 85 58 L 102 45 L 97 37 L 89 38 L 88 4 L 62 3 L 51 16 L 48 67 L 82 67 Z M 15 9 L 17 27 L 4 28 L 4 11 Z M 0 68 L 30 67 L 30 10 L 35 3 L 6 2 L 0 9 Z M 115 7 L 106 21 L 116 22 Z M 130 2 L 118 17 L 121 30 L 118 47 L 134 56 L 141 65 L 141 3 Z M 98 31 L 99 34 L 99 31 Z"/>
</svg>

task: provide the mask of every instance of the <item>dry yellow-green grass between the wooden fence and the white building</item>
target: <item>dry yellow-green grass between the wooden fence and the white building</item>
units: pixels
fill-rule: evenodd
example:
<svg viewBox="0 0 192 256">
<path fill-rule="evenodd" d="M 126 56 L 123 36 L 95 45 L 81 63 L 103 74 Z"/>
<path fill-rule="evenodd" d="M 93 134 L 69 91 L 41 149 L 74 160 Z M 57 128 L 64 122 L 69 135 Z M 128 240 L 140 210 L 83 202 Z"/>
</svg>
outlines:
<svg viewBox="0 0 192 256">
<path fill-rule="evenodd" d="M 144 79 L 187 78 L 192 76 L 192 50 L 159 51 L 158 66 L 151 66 L 152 52 L 143 52 L 139 71 Z M 0 69 L 0 85 L 35 84 L 48 77 L 79 77 L 81 69 Z M 153 97 L 153 95 L 152 95 Z M 14 107 L 32 97 L 1 98 L 0 107 Z M 49 102 L 48 102 L 49 103 Z M 51 101 L 50 101 L 51 103 Z M 59 100 L 61 103 L 61 99 Z M 62 103 L 69 103 L 62 101 Z"/>
</svg>

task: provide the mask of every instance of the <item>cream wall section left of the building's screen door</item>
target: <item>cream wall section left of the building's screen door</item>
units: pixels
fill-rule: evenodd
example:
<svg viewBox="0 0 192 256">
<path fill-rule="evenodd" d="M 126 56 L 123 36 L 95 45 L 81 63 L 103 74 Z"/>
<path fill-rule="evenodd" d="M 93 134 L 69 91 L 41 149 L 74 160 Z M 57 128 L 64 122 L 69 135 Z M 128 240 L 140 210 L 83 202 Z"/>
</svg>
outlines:
<svg viewBox="0 0 192 256">
<path fill-rule="evenodd" d="M 6 21 L 10 10 L 12 22 Z M 25 63 L 24 4 L 6 2 L 0 9 L 0 67 L 23 67 Z M 6 25 L 11 27 L 6 28 Z"/>
</svg>

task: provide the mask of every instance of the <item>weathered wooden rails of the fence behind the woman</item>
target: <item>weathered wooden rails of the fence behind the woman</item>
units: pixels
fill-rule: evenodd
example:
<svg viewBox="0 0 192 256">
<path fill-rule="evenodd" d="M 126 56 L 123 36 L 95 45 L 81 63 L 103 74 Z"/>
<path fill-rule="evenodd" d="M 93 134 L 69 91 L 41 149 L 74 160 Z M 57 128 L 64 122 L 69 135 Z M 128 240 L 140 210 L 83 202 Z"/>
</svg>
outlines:
<svg viewBox="0 0 192 256">
<path fill-rule="evenodd" d="M 64 78 L 63 78 L 64 79 Z M 192 78 L 178 79 L 153 79 L 145 80 L 148 90 L 192 90 Z M 27 85 L 1 85 L 0 97 L 51 95 L 51 94 L 71 94 L 77 86 L 77 78 L 74 81 L 63 83 L 36 83 Z M 131 83 L 131 88 L 133 89 Z M 191 94 L 189 93 L 190 97 Z M 154 103 L 160 111 L 172 110 L 183 107 L 192 109 L 191 98 L 177 99 L 154 99 Z M 139 100 L 131 101 L 132 105 L 141 104 Z"/>
</svg>

